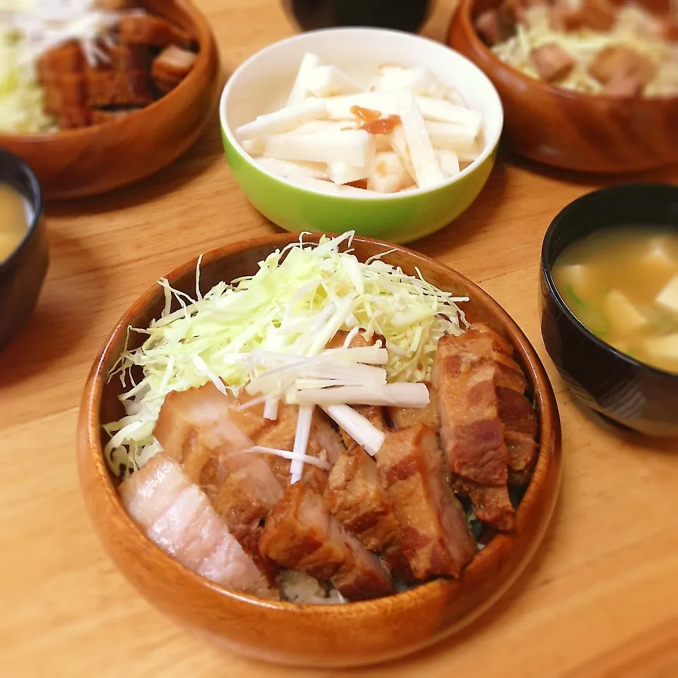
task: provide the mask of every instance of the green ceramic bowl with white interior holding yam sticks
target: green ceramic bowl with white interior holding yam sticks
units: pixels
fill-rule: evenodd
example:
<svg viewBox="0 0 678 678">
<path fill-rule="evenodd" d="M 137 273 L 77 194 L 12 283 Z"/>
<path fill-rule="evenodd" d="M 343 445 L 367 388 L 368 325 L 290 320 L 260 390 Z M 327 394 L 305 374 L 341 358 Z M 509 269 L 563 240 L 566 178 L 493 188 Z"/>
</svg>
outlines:
<svg viewBox="0 0 678 678">
<path fill-rule="evenodd" d="M 283 107 L 304 53 L 343 69 L 367 84 L 381 64 L 423 66 L 454 85 L 482 114 L 485 147 L 480 157 L 434 189 L 400 194 L 334 196 L 297 186 L 260 167 L 233 131 L 256 116 Z M 336 28 L 301 33 L 266 47 L 242 64 L 220 102 L 224 148 L 237 182 L 264 216 L 292 232 L 357 234 L 395 243 L 410 242 L 445 227 L 480 194 L 494 166 L 504 123 L 499 95 L 468 59 L 442 44 L 409 33 L 373 28 Z"/>
</svg>

